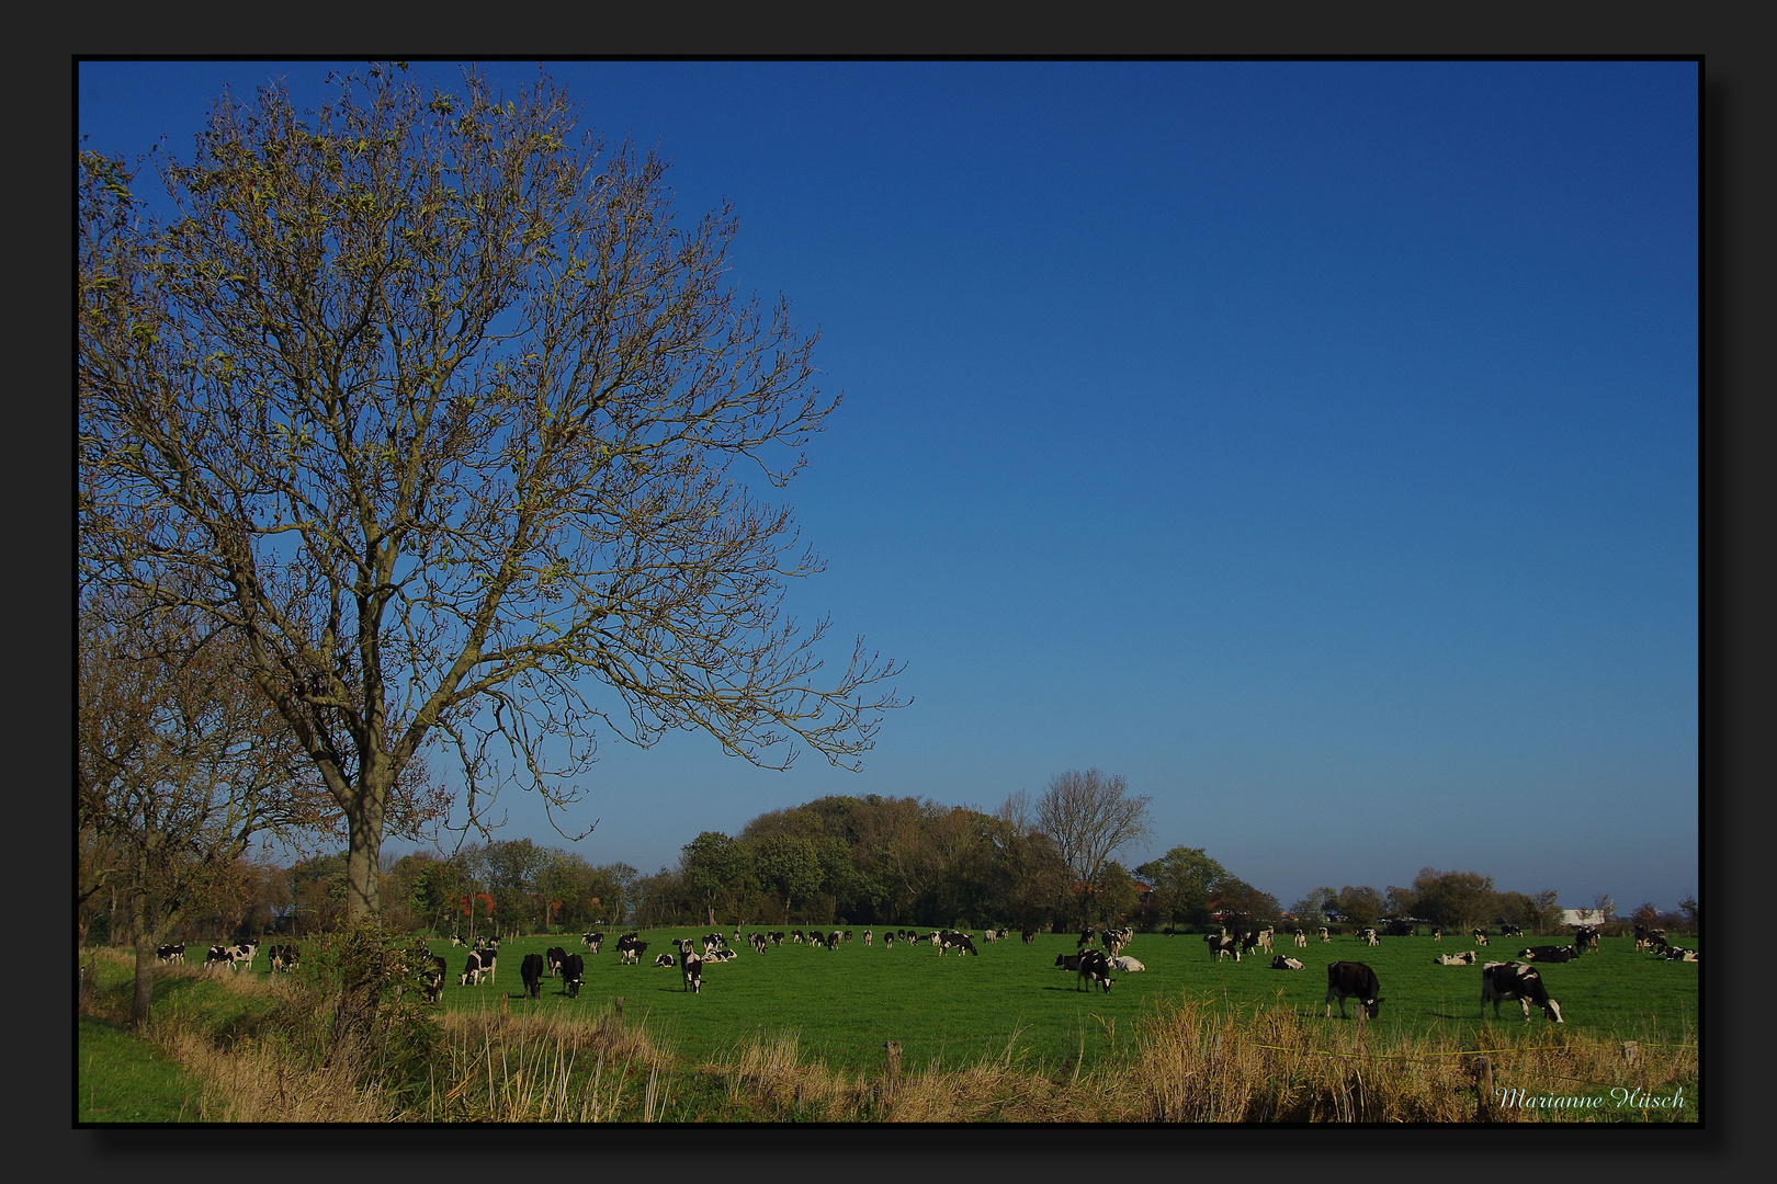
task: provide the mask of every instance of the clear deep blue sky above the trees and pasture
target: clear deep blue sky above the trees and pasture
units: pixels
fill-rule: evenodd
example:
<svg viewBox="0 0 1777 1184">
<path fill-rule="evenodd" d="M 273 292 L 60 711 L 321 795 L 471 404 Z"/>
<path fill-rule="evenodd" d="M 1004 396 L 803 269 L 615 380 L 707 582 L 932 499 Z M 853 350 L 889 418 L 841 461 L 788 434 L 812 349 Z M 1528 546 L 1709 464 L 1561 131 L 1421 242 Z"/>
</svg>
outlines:
<svg viewBox="0 0 1777 1184">
<path fill-rule="evenodd" d="M 188 156 L 226 85 L 327 71 L 84 62 L 78 131 Z M 1098 767 L 1153 799 L 1127 863 L 1203 847 L 1285 904 L 1427 864 L 1699 889 L 1695 64 L 549 73 L 823 330 L 793 600 L 913 698 L 860 774 L 611 740 L 574 850 Z"/>
</svg>

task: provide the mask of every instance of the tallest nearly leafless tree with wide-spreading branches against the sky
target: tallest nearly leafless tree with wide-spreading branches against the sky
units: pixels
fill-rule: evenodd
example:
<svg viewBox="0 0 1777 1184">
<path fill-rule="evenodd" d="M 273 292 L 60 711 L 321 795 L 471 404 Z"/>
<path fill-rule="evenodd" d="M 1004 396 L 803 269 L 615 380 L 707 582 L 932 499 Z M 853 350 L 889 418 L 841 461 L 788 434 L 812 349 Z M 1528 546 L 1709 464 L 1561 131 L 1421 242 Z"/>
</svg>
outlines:
<svg viewBox="0 0 1777 1184">
<path fill-rule="evenodd" d="M 242 634 L 354 918 L 428 744 L 480 825 L 505 785 L 578 801 L 595 724 L 855 767 L 899 706 L 894 664 L 858 639 L 819 678 L 828 621 L 782 612 L 821 561 L 743 478 L 784 486 L 839 399 L 782 302 L 721 286 L 730 209 L 679 225 L 666 165 L 579 137 L 546 76 L 403 71 L 309 114 L 224 96 L 158 165 L 165 225 L 80 158 L 82 575 Z"/>
</svg>

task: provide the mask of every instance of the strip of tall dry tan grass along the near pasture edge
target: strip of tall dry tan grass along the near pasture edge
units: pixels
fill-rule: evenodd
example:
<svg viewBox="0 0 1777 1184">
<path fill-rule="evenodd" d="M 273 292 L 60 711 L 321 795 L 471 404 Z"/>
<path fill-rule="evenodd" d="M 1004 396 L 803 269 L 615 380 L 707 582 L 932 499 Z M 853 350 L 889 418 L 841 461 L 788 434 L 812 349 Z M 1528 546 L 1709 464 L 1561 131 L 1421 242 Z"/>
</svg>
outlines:
<svg viewBox="0 0 1777 1184">
<path fill-rule="evenodd" d="M 172 973 L 201 973 L 178 971 Z M 217 976 L 231 992 L 284 996 L 263 978 Z M 1646 1040 L 1635 1063 L 1621 1040 L 1571 1037 L 1550 1024 L 1494 1026 L 1493 1047 L 1455 1035 L 1384 1035 L 1381 1024 L 1322 1022 L 1276 1006 L 1230 1010 L 1182 994 L 1118 1031 L 1079 1035 L 1070 1063 L 1025 1065 L 1004 1054 L 963 1067 L 928 1065 L 890 1088 L 881 1076 L 805 1060 L 794 1035 L 757 1037 L 700 1067 L 677 1062 L 643 1024 L 611 1012 L 585 1017 L 446 1012 L 425 1079 L 377 1088 L 377 1070 L 329 1065 L 284 1024 L 219 1035 L 192 1019 L 156 1019 L 146 1033 L 206 1083 L 203 1122 L 1578 1122 L 1697 1120 L 1697 1047 Z M 100 1001 L 96 1001 L 98 1010 Z M 114 1003 L 105 1003 L 112 1006 Z M 126 1006 L 126 1001 L 124 1001 Z M 295 1024 L 300 1028 L 300 1022 Z M 311 1024 L 313 1028 L 313 1024 Z M 1098 1044 L 1089 1058 L 1088 1042 Z M 1102 1042 L 1102 1044 L 1100 1044 Z M 1670 1095 L 1686 1111 L 1480 1108 L 1471 1065 L 1484 1053 L 1496 1090 Z M 1095 1069 L 1080 1065 L 1093 1062 Z M 352 1081 L 371 1085 L 354 1086 Z M 398 1101 L 400 1099 L 400 1101 Z"/>
</svg>

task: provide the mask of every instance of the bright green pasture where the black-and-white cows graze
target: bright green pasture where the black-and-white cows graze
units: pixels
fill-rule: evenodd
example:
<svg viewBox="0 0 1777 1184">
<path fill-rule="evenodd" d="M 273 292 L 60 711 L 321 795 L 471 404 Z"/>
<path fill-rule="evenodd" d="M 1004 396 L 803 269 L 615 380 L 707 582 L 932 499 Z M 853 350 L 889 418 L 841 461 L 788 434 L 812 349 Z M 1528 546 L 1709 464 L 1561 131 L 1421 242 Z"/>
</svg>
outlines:
<svg viewBox="0 0 1777 1184">
<path fill-rule="evenodd" d="M 1526 1024 L 1516 1003 L 1500 1019 L 1480 1019 L 1480 967 L 1434 966 L 1439 953 L 1471 948 L 1471 943 L 1430 937 L 1384 937 L 1367 948 L 1356 937 L 1329 944 L 1310 939 L 1297 950 L 1292 939 L 1278 951 L 1306 964 L 1301 971 L 1272 971 L 1269 957 L 1214 962 L 1201 937 L 1137 934 L 1125 953 L 1146 964 L 1143 973 L 1118 975 L 1111 994 L 1075 989 L 1075 976 L 1054 967 L 1057 953 L 1073 953 L 1075 937 L 1045 934 L 1022 944 L 981 943 L 979 957 L 944 957 L 929 944 L 865 948 L 857 939 L 826 951 L 785 943 L 764 955 L 739 946 L 727 964 L 705 964 L 704 991 L 688 994 L 677 969 L 652 966 L 654 955 L 672 951 L 672 937 L 700 937 L 707 930 L 650 930 L 641 937 L 649 950 L 640 966 L 620 966 L 615 934 L 599 955 L 586 953 L 578 935 L 526 937 L 501 944 L 496 983 L 460 987 L 466 950 L 448 941 L 428 948 L 446 957 L 450 976 L 446 1008 L 498 1008 L 501 996 L 519 996 L 519 962 L 553 944 L 586 959 L 579 999 L 569 999 L 560 980 L 544 980 L 537 1001 L 512 998 L 506 1006 L 565 1008 L 599 1015 L 611 999 L 626 999 L 624 1012 L 641 1021 L 657 1040 L 682 1056 L 714 1058 L 752 1035 L 800 1035 L 805 1056 L 832 1069 L 880 1070 L 883 1044 L 901 1040 L 904 1065 L 920 1069 L 936 1062 L 958 1069 L 981 1060 L 1011 1056 L 1027 1067 L 1066 1067 L 1084 1058 L 1112 1053 L 1120 1033 L 1153 1012 L 1157 998 L 1182 992 L 1208 998 L 1224 1008 L 1285 1005 L 1297 1014 L 1320 1017 L 1326 1010 L 1326 966 L 1336 960 L 1365 962 L 1375 969 L 1386 1003 L 1375 1021 L 1379 1037 L 1436 1033 L 1464 1047 L 1498 1046 L 1525 1030 L 1546 1024 L 1532 1012 Z M 732 930 L 730 930 L 732 937 Z M 1509 960 L 1528 944 L 1555 944 L 1553 937 L 1494 939 L 1480 950 L 1484 960 Z M 1681 944 L 1695 948 L 1693 941 Z M 263 953 L 261 953 L 263 959 Z M 1598 953 L 1574 962 L 1542 967 L 1550 994 L 1562 1005 L 1564 1030 L 1574 1035 L 1660 1042 L 1695 1042 L 1699 964 L 1665 962 L 1633 950 L 1628 937 L 1601 939 Z M 1349 1005 L 1351 1006 L 1351 1005 Z M 1351 1008 L 1356 1015 L 1356 1008 Z M 1322 1021 L 1326 1022 L 1326 1021 Z M 1338 1008 L 1333 1024 L 1340 1021 Z"/>
</svg>

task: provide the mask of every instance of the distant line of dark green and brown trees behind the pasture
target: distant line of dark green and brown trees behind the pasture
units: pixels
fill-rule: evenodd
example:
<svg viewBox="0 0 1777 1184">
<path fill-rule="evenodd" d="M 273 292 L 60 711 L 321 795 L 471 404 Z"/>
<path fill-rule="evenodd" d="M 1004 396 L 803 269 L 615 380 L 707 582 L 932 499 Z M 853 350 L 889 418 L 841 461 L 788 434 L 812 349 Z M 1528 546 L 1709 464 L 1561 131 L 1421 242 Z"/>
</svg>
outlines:
<svg viewBox="0 0 1777 1184">
<path fill-rule="evenodd" d="M 233 932 L 323 932 L 345 920 L 345 856 L 281 868 L 242 863 L 238 882 L 187 927 Z M 1414 918 L 1446 930 L 1519 925 L 1558 932 L 1555 891 L 1496 891 L 1477 872 L 1425 868 L 1411 888 L 1319 888 L 1285 909 L 1203 849 L 1173 847 L 1125 868 L 1107 861 L 1080 884 L 1056 841 L 1016 809 L 988 815 L 915 797 L 823 797 L 775 809 L 739 834 L 704 831 L 673 868 L 641 875 L 626 863 L 590 864 L 531 840 L 469 845 L 446 856 L 384 859 L 384 921 L 402 930 L 530 934 L 594 927 L 919 925 L 1070 930 L 1089 923 L 1230 930 L 1258 923 L 1372 925 Z M 1635 920 L 1697 928 L 1681 912 Z M 92 939 L 117 941 L 98 909 Z M 1644 916 L 1646 914 L 1646 916 Z"/>
</svg>

